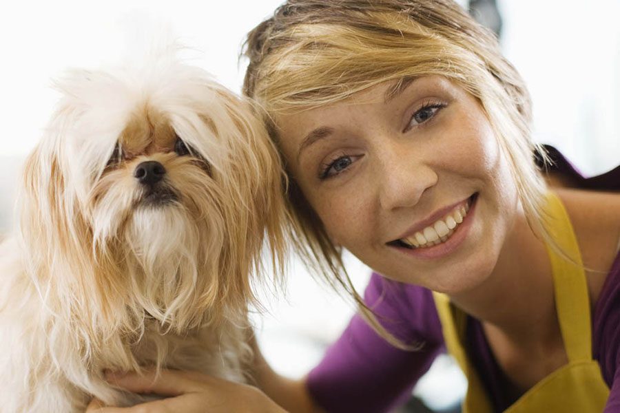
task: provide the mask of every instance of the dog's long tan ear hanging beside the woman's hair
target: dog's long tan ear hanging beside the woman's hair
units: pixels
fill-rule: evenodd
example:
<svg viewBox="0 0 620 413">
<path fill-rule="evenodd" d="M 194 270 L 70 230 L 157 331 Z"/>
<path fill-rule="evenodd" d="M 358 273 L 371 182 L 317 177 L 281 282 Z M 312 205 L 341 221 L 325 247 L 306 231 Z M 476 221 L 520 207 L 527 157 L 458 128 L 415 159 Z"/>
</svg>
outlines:
<svg viewBox="0 0 620 413">
<path fill-rule="evenodd" d="M 220 273 L 229 275 L 223 278 L 229 283 L 224 289 L 229 299 L 239 297 L 260 307 L 252 284 L 281 286 L 284 279 L 285 174 L 256 108 L 245 99 L 226 94 L 220 95 L 219 101 L 225 105 L 227 117 L 212 118 L 212 129 L 235 157 L 233 162 L 225 162 L 216 176 L 231 206 L 224 210 L 230 215 L 224 220 L 230 245 L 220 259 Z M 252 274 L 254 278 L 249 277 Z"/>
</svg>

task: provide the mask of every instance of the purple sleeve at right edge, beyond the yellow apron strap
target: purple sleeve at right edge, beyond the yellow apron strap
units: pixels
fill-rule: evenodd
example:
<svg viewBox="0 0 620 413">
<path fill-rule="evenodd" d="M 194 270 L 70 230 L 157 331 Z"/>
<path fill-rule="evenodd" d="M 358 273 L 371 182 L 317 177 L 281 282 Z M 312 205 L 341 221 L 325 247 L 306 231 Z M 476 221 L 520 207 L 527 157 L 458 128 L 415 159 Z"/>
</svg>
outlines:
<svg viewBox="0 0 620 413">
<path fill-rule="evenodd" d="M 610 388 L 605 413 L 620 412 L 620 253 L 597 301 L 592 348 Z"/>
</svg>

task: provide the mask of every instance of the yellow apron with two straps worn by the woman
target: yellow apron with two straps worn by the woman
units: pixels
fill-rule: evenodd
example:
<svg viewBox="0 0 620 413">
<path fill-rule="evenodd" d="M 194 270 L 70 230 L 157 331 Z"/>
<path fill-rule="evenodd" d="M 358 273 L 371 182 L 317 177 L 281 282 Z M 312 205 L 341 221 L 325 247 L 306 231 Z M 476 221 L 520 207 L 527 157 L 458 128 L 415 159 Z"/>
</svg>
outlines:
<svg viewBox="0 0 620 413">
<path fill-rule="evenodd" d="M 553 271 L 555 306 L 568 355 L 568 363 L 536 383 L 506 412 L 590 413 L 602 412 L 609 388 L 599 364 L 592 360 L 590 299 L 586 274 L 568 214 L 557 195 L 548 195 L 550 234 L 575 263 L 568 262 L 547 246 Z M 448 352 L 455 357 L 468 380 L 463 413 L 493 412 L 492 404 L 464 350 L 467 315 L 450 304 L 450 299 L 433 293 L 442 322 Z"/>
</svg>

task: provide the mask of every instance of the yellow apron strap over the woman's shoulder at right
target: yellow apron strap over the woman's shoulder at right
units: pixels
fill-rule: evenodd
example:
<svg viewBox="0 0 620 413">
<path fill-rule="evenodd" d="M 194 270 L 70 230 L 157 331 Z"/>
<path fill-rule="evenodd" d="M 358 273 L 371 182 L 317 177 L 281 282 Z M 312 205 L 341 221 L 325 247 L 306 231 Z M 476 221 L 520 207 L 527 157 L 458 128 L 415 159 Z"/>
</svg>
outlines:
<svg viewBox="0 0 620 413">
<path fill-rule="evenodd" d="M 568 361 L 592 360 L 590 298 L 586 273 L 575 232 L 557 195 L 549 192 L 545 210 L 546 229 L 557 243 L 546 243 L 551 260 L 555 306 Z"/>
</svg>

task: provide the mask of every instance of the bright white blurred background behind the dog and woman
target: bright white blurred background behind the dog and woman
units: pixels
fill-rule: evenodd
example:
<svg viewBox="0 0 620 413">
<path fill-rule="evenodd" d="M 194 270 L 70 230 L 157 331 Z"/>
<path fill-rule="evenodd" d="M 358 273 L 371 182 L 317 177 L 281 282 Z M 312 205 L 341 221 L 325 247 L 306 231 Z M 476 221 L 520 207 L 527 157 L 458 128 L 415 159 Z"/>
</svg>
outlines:
<svg viewBox="0 0 620 413">
<path fill-rule="evenodd" d="M 329 1 L 329 0 L 327 0 Z M 13 1 L 0 14 L 0 234 L 12 227 L 19 167 L 41 136 L 58 98 L 51 81 L 68 67 L 114 61 L 123 27 L 134 19 L 169 23 L 201 52 L 192 63 L 240 92 L 245 34 L 280 0 Z M 526 79 L 535 138 L 558 147 L 586 175 L 620 163 L 620 2 L 617 0 L 462 0 L 495 30 L 504 53 Z M 370 271 L 347 255 L 355 285 Z M 286 297 L 265 294 L 256 315 L 260 345 L 276 370 L 301 377 L 338 337 L 353 310 L 293 262 Z M 458 411 L 466 382 L 448 357 L 437 359 L 402 412 Z"/>
</svg>

